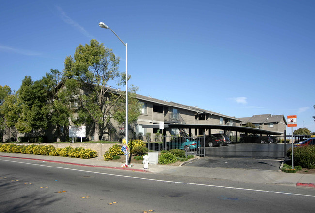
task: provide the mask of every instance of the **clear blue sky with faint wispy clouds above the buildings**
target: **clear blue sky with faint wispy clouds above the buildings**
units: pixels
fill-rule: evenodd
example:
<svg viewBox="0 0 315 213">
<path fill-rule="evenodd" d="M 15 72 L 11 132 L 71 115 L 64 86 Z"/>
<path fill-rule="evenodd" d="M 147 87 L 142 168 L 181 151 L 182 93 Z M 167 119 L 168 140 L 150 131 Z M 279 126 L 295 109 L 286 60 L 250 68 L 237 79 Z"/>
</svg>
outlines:
<svg viewBox="0 0 315 213">
<path fill-rule="evenodd" d="M 125 71 L 125 46 L 104 22 L 128 43 L 139 94 L 237 118 L 297 115 L 315 132 L 314 0 L 10 0 L 0 20 L 0 85 L 13 90 L 62 71 L 91 39 Z"/>
</svg>

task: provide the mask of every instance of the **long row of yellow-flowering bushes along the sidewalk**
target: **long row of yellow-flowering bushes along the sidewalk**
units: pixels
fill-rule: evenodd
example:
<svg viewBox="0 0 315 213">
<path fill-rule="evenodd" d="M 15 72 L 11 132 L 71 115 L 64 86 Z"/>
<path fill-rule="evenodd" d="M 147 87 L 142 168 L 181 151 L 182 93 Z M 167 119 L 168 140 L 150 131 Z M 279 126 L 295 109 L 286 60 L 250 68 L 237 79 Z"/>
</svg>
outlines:
<svg viewBox="0 0 315 213">
<path fill-rule="evenodd" d="M 17 145 L 17 144 L 0 144 L 0 152 L 22 153 L 22 154 L 38 154 L 63 157 L 80 157 L 82 159 L 97 157 L 97 152 L 83 147 L 72 148 L 70 146 L 63 149 L 56 149 L 52 145 Z"/>
</svg>

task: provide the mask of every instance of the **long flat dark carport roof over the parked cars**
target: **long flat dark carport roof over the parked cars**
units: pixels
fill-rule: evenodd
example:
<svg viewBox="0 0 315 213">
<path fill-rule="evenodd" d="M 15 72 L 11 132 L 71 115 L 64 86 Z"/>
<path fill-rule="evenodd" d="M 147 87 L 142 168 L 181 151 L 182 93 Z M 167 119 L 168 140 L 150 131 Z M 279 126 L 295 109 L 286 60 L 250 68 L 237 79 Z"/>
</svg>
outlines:
<svg viewBox="0 0 315 213">
<path fill-rule="evenodd" d="M 141 125 L 142 128 L 159 128 L 159 124 Z M 263 129 L 256 129 L 245 126 L 225 126 L 225 125 L 206 125 L 206 124 L 183 124 L 183 123 L 164 123 L 164 129 L 222 129 L 252 134 L 281 135 L 282 132 L 273 132 Z"/>
</svg>

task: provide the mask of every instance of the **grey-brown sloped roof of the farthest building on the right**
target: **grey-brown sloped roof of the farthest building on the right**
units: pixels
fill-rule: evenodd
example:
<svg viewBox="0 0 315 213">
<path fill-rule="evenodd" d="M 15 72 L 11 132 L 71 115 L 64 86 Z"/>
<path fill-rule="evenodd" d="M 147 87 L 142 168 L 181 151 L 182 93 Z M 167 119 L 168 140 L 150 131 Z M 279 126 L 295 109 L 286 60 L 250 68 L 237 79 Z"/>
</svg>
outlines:
<svg viewBox="0 0 315 213">
<path fill-rule="evenodd" d="M 253 115 L 252 117 L 243 117 L 238 118 L 242 120 L 243 124 L 246 124 L 248 122 L 250 123 L 279 123 L 284 121 L 287 125 L 286 119 L 284 118 L 284 115 L 271 115 L 271 114 L 263 114 L 263 115 Z"/>
</svg>

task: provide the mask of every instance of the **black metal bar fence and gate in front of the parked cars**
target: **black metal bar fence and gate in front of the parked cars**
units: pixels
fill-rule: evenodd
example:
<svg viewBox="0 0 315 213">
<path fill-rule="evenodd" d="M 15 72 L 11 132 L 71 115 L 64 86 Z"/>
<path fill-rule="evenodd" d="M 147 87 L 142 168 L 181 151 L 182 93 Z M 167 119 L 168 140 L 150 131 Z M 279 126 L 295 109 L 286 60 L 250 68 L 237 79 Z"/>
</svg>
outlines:
<svg viewBox="0 0 315 213">
<path fill-rule="evenodd" d="M 119 129 L 120 130 L 120 129 Z M 125 137 L 124 132 L 117 135 L 117 140 L 121 141 Z M 114 137 L 111 137 L 114 139 Z M 265 137 L 229 137 L 230 142 L 213 147 L 208 146 L 207 136 L 179 137 L 163 136 L 161 134 L 131 135 L 130 140 L 140 139 L 146 143 L 150 151 L 161 151 L 170 149 L 182 149 L 186 154 L 209 157 L 247 157 L 247 158 L 285 158 L 286 152 L 290 148 L 284 135 L 268 136 L 269 140 L 262 142 Z M 114 140 L 112 140 L 114 141 Z"/>
</svg>

